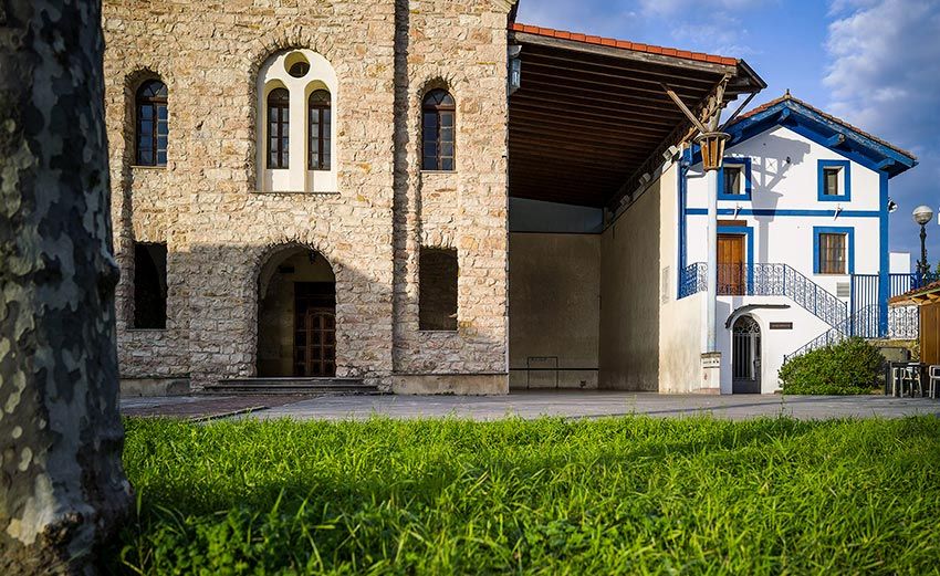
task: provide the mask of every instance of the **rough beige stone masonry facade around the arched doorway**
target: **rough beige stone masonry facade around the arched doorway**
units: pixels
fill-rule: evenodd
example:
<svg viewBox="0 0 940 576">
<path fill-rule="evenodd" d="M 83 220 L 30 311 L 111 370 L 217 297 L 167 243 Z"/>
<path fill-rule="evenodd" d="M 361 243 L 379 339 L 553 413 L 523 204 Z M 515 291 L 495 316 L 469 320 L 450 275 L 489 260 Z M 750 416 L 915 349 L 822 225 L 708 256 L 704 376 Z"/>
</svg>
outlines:
<svg viewBox="0 0 940 576">
<path fill-rule="evenodd" d="M 397 369 L 503 369 L 508 10 L 502 0 L 105 0 L 122 376 L 191 374 L 199 387 L 254 375 L 258 273 L 285 244 L 333 266 L 337 376 L 389 386 L 393 292 Z M 254 191 L 257 71 L 291 48 L 323 54 L 340 78 L 338 193 Z M 135 167 L 134 92 L 154 76 L 169 91 L 168 164 Z M 435 78 L 458 102 L 460 156 L 457 172 L 422 181 L 419 100 Z M 421 197 L 437 202 L 422 212 Z M 168 244 L 166 331 L 130 329 L 135 240 Z M 458 248 L 468 271 L 461 328 L 446 341 L 417 333 L 421 241 Z"/>
</svg>

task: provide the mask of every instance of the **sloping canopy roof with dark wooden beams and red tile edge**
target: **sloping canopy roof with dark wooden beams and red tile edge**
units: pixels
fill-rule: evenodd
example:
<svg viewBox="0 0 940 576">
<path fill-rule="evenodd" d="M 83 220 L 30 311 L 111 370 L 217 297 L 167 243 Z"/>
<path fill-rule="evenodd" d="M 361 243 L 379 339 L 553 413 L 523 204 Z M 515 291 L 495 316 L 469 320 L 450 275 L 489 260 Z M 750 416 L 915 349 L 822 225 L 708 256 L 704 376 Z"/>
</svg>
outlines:
<svg viewBox="0 0 940 576">
<path fill-rule="evenodd" d="M 700 118 L 766 84 L 742 60 L 512 23 L 520 88 L 509 103 L 510 196 L 616 209 Z M 724 84 L 721 102 L 716 94 Z"/>
</svg>

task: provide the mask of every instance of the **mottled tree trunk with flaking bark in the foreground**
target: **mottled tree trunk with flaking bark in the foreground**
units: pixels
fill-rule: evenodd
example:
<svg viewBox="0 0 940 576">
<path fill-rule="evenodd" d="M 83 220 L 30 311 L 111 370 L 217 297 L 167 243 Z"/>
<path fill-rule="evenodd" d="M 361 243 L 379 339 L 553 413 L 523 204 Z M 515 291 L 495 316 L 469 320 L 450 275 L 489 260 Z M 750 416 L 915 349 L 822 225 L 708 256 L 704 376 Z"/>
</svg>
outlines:
<svg viewBox="0 0 940 576">
<path fill-rule="evenodd" d="M 0 574 L 95 569 L 128 507 L 101 2 L 0 0 Z"/>
</svg>

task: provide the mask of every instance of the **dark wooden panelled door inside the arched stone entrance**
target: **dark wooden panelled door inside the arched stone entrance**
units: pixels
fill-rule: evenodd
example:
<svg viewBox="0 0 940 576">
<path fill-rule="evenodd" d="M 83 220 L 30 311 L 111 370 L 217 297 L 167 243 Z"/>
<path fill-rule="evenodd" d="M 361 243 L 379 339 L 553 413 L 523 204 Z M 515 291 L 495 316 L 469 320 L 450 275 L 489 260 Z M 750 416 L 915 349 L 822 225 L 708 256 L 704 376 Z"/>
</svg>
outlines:
<svg viewBox="0 0 940 576">
<path fill-rule="evenodd" d="M 294 284 L 294 376 L 336 376 L 336 296 L 334 285 Z"/>
</svg>

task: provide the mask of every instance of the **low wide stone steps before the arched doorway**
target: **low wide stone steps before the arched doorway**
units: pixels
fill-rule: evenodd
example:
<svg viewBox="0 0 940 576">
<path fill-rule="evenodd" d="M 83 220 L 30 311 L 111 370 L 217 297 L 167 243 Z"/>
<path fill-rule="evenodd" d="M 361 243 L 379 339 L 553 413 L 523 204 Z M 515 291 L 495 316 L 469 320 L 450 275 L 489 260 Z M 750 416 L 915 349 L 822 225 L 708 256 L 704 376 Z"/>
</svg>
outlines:
<svg viewBox="0 0 940 576">
<path fill-rule="evenodd" d="M 212 396 L 271 395 L 379 395 L 378 387 L 358 378 L 232 378 L 210 384 L 202 394 Z"/>
</svg>

